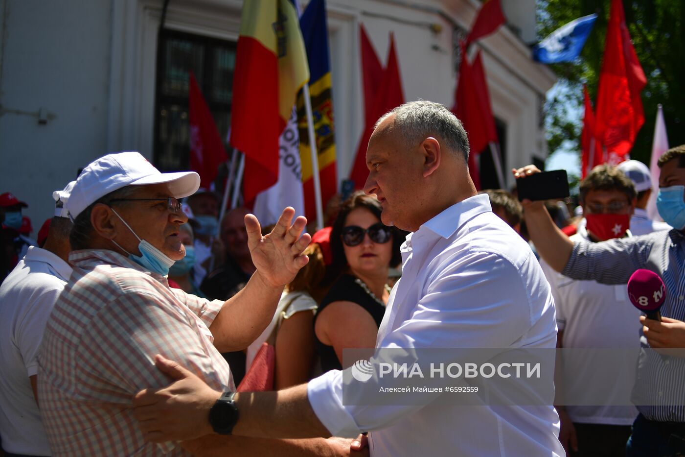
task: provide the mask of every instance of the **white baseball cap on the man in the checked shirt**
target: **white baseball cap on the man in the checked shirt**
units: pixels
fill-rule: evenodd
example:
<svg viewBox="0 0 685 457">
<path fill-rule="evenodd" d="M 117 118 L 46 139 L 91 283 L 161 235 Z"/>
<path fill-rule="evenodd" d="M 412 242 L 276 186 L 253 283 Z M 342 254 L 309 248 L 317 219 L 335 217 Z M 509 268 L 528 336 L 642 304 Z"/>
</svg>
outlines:
<svg viewBox="0 0 685 457">
<path fill-rule="evenodd" d="M 200 187 L 195 172 L 162 173 L 138 152 L 107 154 L 83 169 L 64 204 L 73 220 L 90 204 L 129 185 L 169 184 L 175 198 L 190 196 Z"/>
</svg>

